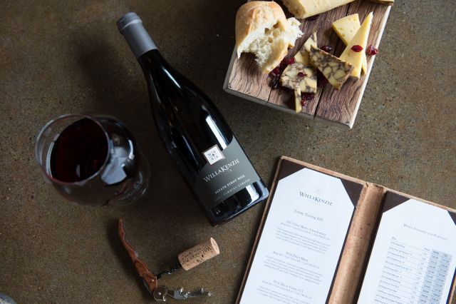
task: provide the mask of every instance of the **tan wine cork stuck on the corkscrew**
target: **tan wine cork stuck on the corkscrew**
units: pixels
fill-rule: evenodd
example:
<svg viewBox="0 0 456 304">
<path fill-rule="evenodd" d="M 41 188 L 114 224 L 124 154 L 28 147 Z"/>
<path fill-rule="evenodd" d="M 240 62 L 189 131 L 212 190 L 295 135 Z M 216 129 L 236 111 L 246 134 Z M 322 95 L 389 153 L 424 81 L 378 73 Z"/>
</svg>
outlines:
<svg viewBox="0 0 456 304">
<path fill-rule="evenodd" d="M 199 243 L 198 245 L 185 250 L 177 256 L 179 263 L 185 270 L 190 270 L 195 266 L 203 263 L 209 258 L 214 258 L 215 255 L 220 253 L 219 246 L 213 238 Z"/>
</svg>

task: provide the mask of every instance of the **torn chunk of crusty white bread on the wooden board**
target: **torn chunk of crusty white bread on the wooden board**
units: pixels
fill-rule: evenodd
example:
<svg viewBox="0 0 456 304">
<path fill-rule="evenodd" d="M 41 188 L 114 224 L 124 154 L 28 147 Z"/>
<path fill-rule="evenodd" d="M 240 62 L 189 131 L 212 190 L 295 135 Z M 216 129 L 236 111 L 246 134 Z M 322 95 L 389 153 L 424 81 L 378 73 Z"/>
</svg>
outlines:
<svg viewBox="0 0 456 304">
<path fill-rule="evenodd" d="M 295 18 L 286 19 L 274 1 L 247 2 L 236 14 L 237 57 L 253 53 L 261 71 L 269 73 L 302 35 L 300 25 Z"/>
</svg>

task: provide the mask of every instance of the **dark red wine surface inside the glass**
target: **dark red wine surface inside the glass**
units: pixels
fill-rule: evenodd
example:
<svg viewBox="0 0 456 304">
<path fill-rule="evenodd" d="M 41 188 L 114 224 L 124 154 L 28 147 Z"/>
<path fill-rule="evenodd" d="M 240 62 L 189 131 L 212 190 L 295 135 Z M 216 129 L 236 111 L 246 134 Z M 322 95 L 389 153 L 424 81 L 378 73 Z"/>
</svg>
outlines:
<svg viewBox="0 0 456 304">
<path fill-rule="evenodd" d="M 51 176 L 73 183 L 93 176 L 108 157 L 108 138 L 95 121 L 83 118 L 58 136 L 51 151 Z"/>
</svg>

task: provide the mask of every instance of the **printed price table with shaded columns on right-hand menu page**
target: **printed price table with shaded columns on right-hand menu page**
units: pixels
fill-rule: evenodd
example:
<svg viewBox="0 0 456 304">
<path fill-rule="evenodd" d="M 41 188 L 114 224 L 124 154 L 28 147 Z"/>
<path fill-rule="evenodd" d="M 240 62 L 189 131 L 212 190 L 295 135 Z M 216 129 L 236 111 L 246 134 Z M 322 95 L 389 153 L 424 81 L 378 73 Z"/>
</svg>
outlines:
<svg viewBox="0 0 456 304">
<path fill-rule="evenodd" d="M 451 259 L 442 251 L 418 248 L 392 238 L 375 301 L 440 303 Z"/>
</svg>

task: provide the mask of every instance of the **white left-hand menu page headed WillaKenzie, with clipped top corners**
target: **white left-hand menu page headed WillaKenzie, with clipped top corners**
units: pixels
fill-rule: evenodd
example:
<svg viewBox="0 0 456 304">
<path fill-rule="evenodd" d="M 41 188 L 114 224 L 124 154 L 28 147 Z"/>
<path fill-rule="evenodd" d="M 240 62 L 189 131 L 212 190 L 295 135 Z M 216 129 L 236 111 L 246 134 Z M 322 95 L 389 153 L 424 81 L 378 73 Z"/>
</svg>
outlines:
<svg viewBox="0 0 456 304">
<path fill-rule="evenodd" d="M 282 178 L 240 303 L 325 303 L 353 211 L 339 178 L 309 168 Z"/>
</svg>

